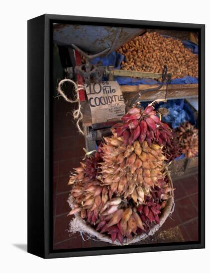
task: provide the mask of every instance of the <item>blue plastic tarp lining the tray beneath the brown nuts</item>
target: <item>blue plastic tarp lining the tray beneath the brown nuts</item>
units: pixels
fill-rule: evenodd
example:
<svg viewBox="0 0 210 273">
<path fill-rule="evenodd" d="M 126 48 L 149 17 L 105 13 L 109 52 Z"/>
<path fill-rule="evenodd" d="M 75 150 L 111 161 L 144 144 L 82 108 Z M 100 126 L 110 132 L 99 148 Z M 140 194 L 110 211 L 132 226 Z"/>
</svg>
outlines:
<svg viewBox="0 0 210 273">
<path fill-rule="evenodd" d="M 165 37 L 170 37 L 166 36 Z M 189 41 L 182 40 L 182 43 L 185 47 L 190 48 L 191 51 L 195 54 L 198 54 L 198 46 Z M 125 59 L 125 56 L 117 53 L 115 51 L 111 52 L 105 57 L 97 57 L 91 61 L 91 64 L 96 65 L 98 62 L 102 62 L 103 66 L 113 66 L 114 68 L 119 69 L 121 62 Z M 107 78 L 103 78 L 103 80 L 107 80 Z M 132 78 L 132 77 L 121 77 L 115 76 L 114 80 L 116 80 L 120 85 L 139 85 L 139 84 L 160 84 L 159 81 L 149 78 Z M 193 84 L 198 83 L 198 78 L 185 76 L 183 78 L 172 79 L 170 84 Z"/>
</svg>

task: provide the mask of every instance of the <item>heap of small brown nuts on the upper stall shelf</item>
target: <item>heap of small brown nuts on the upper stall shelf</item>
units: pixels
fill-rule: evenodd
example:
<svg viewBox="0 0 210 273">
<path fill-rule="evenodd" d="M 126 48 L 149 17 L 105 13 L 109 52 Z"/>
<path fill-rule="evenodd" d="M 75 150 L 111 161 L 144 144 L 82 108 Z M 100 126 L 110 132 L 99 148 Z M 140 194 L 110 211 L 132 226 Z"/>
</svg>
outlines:
<svg viewBox="0 0 210 273">
<path fill-rule="evenodd" d="M 198 77 L 198 55 L 185 48 L 182 42 L 166 38 L 157 32 L 146 32 L 117 50 L 125 55 L 121 69 L 162 73 L 164 65 L 172 79 L 184 76 Z"/>
</svg>

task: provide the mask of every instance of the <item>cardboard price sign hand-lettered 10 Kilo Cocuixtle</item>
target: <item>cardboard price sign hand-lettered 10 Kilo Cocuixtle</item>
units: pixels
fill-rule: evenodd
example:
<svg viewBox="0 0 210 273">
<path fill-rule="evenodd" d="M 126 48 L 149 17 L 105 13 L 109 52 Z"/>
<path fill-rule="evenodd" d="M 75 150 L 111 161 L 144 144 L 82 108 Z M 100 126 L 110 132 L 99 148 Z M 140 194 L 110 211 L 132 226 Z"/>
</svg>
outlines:
<svg viewBox="0 0 210 273">
<path fill-rule="evenodd" d="M 119 120 L 125 114 L 125 104 L 116 81 L 91 83 L 85 87 L 91 108 L 92 123 Z"/>
</svg>

